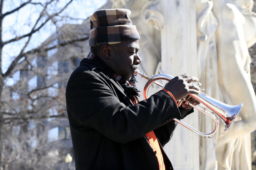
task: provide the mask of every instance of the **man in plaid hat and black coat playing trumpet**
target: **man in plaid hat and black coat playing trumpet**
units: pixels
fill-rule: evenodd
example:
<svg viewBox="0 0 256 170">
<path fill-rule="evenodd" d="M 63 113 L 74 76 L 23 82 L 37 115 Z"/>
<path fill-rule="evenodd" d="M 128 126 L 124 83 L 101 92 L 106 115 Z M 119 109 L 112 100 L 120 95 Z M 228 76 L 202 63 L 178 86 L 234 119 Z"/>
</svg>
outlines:
<svg viewBox="0 0 256 170">
<path fill-rule="evenodd" d="M 138 101 L 134 74 L 142 62 L 140 36 L 128 9 L 98 10 L 90 16 L 91 52 L 71 74 L 66 88 L 76 169 L 173 169 L 163 146 L 193 112 L 177 106 L 199 94 L 182 74 L 146 100 Z M 187 103 L 199 104 L 190 98 Z"/>
</svg>

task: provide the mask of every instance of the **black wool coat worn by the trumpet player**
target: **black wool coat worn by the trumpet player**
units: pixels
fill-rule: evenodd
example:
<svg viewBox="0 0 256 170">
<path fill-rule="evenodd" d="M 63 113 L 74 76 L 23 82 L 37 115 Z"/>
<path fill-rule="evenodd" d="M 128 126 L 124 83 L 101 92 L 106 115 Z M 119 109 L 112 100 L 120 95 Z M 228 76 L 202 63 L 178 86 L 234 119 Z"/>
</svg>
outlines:
<svg viewBox="0 0 256 170">
<path fill-rule="evenodd" d="M 177 125 L 172 119 L 181 116 L 163 90 L 133 106 L 121 85 L 87 58 L 69 78 L 66 101 L 76 170 L 159 169 L 145 134 L 154 130 L 164 146 Z"/>
</svg>

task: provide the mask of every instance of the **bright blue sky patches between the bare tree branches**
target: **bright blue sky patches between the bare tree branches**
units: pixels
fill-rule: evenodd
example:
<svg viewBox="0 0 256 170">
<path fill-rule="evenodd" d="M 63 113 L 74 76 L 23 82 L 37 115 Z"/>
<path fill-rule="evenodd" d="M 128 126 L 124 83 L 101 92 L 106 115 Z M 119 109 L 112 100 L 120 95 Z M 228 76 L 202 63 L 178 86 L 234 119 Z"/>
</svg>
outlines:
<svg viewBox="0 0 256 170">
<path fill-rule="evenodd" d="M 40 0 L 35 0 L 40 1 Z M 68 0 L 61 0 L 61 3 L 65 4 Z M 12 1 L 4 1 L 3 13 L 10 11 L 15 8 L 15 5 L 18 6 L 20 4 L 20 0 L 12 0 Z M 70 17 L 80 18 L 81 20 L 70 22 L 70 20 L 63 20 L 61 24 L 66 23 L 82 23 L 82 19 L 86 19 L 92 14 L 96 9 L 100 8 L 103 4 L 105 4 L 107 0 L 74 0 L 68 8 L 63 11 L 65 14 L 68 14 Z M 63 6 L 62 4 L 62 6 Z M 60 4 L 61 6 L 61 4 Z M 35 6 L 27 5 L 21 8 L 18 12 L 15 12 L 12 15 L 9 15 L 3 20 L 3 41 L 14 38 L 14 35 L 23 35 L 28 33 L 31 30 L 31 25 L 38 18 L 38 11 L 40 11 L 40 7 L 35 8 Z M 44 42 L 51 34 L 55 32 L 55 27 L 50 23 L 44 29 L 44 31 L 39 32 L 33 37 L 31 40 L 31 44 L 27 50 L 33 49 L 39 46 L 42 42 Z M 26 42 L 26 38 L 22 41 L 16 43 L 10 43 L 4 46 L 3 55 L 2 55 L 2 71 L 5 72 L 12 62 L 15 56 L 17 56 L 24 46 Z"/>
</svg>

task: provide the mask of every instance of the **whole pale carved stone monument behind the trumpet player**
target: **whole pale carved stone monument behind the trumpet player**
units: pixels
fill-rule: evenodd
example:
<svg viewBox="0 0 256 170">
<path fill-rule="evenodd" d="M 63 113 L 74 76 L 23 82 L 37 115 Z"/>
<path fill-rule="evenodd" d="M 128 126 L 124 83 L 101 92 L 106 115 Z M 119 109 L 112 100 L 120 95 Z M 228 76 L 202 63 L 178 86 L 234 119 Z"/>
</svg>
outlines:
<svg viewBox="0 0 256 170">
<path fill-rule="evenodd" d="M 178 125 L 174 132 L 177 136 L 169 142 L 172 144 L 164 147 L 166 152 L 170 150 L 174 168 L 250 170 L 250 133 L 256 129 L 256 97 L 250 82 L 248 52 L 256 42 L 253 1 L 111 1 L 113 8 L 132 11 L 130 18 L 141 36 L 141 72 L 173 76 L 188 73 L 199 78 L 201 88 L 206 89 L 203 93 L 208 96 L 230 105 L 243 102 L 239 116 L 228 131 L 223 132 L 223 123 L 219 121 L 215 138 L 199 137 Z M 180 30 L 170 29 L 173 27 Z M 163 52 L 167 50 L 171 51 Z M 146 80 L 137 77 L 137 81 L 138 89 L 143 91 Z M 213 121 L 207 116 L 193 115 L 188 119 L 198 124 L 201 132 L 214 129 Z M 189 141 L 184 143 L 184 140 Z"/>
</svg>

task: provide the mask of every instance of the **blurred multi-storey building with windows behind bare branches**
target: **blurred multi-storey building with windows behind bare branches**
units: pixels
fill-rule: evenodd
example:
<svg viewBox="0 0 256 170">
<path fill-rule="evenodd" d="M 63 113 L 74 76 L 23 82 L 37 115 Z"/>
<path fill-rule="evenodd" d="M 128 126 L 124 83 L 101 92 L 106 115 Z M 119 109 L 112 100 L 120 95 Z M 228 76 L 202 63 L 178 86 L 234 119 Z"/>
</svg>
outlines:
<svg viewBox="0 0 256 170">
<path fill-rule="evenodd" d="M 112 2 L 108 2 L 102 8 L 111 7 Z M 68 168 L 64 161 L 68 153 L 74 158 L 65 89 L 70 74 L 90 52 L 89 32 L 89 17 L 82 24 L 63 25 L 40 45 L 40 50 L 19 63 L 3 91 L 5 103 L 9 103 L 3 106 L 5 111 L 29 116 L 29 122 L 14 123 L 12 131 L 29 133 L 28 152 L 38 153 L 38 145 L 47 146 L 46 155 L 58 162 L 56 169 Z M 24 107 L 12 111 L 16 104 Z M 74 167 L 73 159 L 69 168 Z"/>
</svg>

